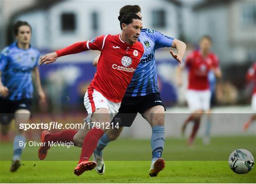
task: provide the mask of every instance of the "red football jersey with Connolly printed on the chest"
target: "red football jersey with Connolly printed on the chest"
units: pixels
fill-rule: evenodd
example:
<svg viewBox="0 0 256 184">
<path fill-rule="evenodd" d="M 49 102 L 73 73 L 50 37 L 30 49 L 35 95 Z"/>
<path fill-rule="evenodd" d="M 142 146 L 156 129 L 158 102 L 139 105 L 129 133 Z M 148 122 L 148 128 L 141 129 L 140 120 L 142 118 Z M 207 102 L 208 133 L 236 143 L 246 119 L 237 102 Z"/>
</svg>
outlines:
<svg viewBox="0 0 256 184">
<path fill-rule="evenodd" d="M 97 72 L 90 86 L 112 102 L 121 102 L 144 54 L 143 45 L 128 45 L 117 35 L 102 35 L 86 42 L 87 49 L 100 50 Z"/>
</svg>

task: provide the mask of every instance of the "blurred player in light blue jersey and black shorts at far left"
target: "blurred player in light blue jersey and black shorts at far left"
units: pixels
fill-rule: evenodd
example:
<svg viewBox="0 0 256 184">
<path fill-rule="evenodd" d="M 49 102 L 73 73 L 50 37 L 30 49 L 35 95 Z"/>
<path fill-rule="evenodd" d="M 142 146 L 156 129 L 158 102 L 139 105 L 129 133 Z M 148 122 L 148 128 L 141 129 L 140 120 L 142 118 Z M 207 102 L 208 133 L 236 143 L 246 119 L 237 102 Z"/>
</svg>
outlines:
<svg viewBox="0 0 256 184">
<path fill-rule="evenodd" d="M 39 52 L 29 44 L 31 26 L 27 22 L 18 21 L 13 31 L 17 42 L 2 50 L 0 57 L 1 134 L 5 135 L 9 132 L 13 118 L 17 128 L 13 142 L 11 172 L 16 171 L 21 165 L 20 156 L 23 147 L 19 146 L 19 142 L 25 142 L 26 138 L 23 130 L 19 129 L 19 123 L 27 122 L 30 117 L 33 96 L 32 78 L 37 87 L 40 103 L 45 102 L 46 99 L 37 68 Z"/>
</svg>

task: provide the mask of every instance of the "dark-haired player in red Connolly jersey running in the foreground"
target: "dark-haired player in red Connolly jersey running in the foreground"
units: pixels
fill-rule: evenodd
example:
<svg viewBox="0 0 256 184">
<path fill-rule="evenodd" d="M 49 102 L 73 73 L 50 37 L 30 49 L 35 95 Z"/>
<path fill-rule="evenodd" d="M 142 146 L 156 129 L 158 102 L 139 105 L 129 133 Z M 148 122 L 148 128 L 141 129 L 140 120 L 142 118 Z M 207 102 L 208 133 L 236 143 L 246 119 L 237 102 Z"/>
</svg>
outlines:
<svg viewBox="0 0 256 184">
<path fill-rule="evenodd" d="M 87 122 L 100 122 L 100 128 L 94 127 L 87 134 L 85 133 L 80 160 L 74 169 L 74 174 L 77 176 L 96 167 L 96 162 L 89 161 L 91 154 L 101 136 L 107 131 L 107 123 L 118 112 L 128 84 L 144 54 L 143 45 L 137 42 L 142 29 L 141 18 L 135 13 L 126 14 L 120 21 L 120 27 L 121 34 L 102 35 L 91 41 L 74 43 L 62 50 L 46 54 L 40 61 L 40 65 L 49 64 L 55 62 L 58 57 L 68 54 L 75 54 L 84 50 L 101 51 L 97 72 L 84 96 L 84 106 L 88 112 Z M 46 157 L 49 149 L 47 142 L 74 142 L 73 137 L 76 133 L 73 130 L 66 130 L 57 134 L 43 131 L 41 142 L 46 142 L 46 146 L 39 148 L 39 159 Z"/>
</svg>

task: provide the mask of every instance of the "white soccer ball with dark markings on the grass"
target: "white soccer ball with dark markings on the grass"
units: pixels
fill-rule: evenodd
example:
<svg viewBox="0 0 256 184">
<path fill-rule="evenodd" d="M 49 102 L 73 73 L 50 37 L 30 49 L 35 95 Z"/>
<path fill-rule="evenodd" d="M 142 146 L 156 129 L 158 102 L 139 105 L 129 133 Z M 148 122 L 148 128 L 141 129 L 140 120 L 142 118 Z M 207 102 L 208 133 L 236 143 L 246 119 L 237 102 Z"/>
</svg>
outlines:
<svg viewBox="0 0 256 184">
<path fill-rule="evenodd" d="M 248 173 L 254 164 L 253 155 L 245 149 L 237 149 L 229 155 L 229 167 L 237 174 Z"/>
</svg>

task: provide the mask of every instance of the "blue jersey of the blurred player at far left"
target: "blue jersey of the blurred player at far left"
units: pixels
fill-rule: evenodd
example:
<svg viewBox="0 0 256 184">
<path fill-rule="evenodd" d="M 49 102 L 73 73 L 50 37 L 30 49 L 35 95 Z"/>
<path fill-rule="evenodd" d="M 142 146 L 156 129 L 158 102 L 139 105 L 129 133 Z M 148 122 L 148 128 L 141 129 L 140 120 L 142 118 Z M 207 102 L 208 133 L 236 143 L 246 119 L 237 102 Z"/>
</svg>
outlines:
<svg viewBox="0 0 256 184">
<path fill-rule="evenodd" d="M 9 100 L 32 98 L 32 69 L 37 67 L 39 51 L 30 47 L 27 50 L 18 48 L 12 43 L 1 52 L 1 81 L 9 89 Z"/>
</svg>

